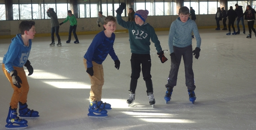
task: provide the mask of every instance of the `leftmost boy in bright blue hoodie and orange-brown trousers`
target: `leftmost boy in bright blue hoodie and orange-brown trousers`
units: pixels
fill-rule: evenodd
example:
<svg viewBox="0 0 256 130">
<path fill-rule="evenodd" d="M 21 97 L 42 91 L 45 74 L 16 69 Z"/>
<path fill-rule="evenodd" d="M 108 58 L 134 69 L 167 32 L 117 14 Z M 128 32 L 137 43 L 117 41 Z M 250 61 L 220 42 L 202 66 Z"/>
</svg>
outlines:
<svg viewBox="0 0 256 130">
<path fill-rule="evenodd" d="M 34 21 L 22 21 L 19 25 L 21 34 L 17 34 L 12 39 L 8 51 L 4 55 L 2 70 L 6 78 L 10 81 L 14 93 L 10 102 L 9 113 L 6 119 L 6 128 L 26 128 L 28 121 L 20 119 L 17 116 L 19 104 L 19 116 L 21 117 L 38 117 L 38 112 L 28 109 L 28 80 L 23 66 L 28 69 L 28 76 L 33 74 L 34 69 L 30 65 L 28 56 L 30 54 L 32 41 L 35 31 Z"/>
</svg>

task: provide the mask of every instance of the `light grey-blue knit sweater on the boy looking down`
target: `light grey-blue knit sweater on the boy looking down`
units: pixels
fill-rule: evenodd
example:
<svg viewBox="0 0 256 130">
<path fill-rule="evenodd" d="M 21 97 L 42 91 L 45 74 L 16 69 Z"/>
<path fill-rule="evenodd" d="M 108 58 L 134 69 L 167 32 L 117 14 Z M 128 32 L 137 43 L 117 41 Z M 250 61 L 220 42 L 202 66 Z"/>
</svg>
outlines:
<svg viewBox="0 0 256 130">
<path fill-rule="evenodd" d="M 178 17 L 172 22 L 169 32 L 168 45 L 170 53 L 173 52 L 173 46 L 175 47 L 188 47 L 192 45 L 191 33 L 194 32 L 196 37 L 196 47 L 201 46 L 201 37 L 198 32 L 196 22 L 188 18 L 188 21 L 183 23 Z"/>
</svg>

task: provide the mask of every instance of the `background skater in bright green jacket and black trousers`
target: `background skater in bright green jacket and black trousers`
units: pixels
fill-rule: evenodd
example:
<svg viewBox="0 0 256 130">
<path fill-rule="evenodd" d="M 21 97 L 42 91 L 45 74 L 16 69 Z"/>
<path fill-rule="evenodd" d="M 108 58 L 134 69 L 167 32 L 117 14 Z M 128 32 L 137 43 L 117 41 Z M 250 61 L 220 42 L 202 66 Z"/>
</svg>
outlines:
<svg viewBox="0 0 256 130">
<path fill-rule="evenodd" d="M 72 31 L 73 31 L 73 35 L 76 39 L 76 41 L 74 41 L 74 43 L 79 43 L 77 35 L 76 35 L 76 26 L 77 26 L 76 16 L 74 16 L 74 14 L 72 14 L 71 10 L 68 10 L 67 18 L 62 23 L 60 23 L 60 25 L 62 25 L 63 23 L 66 23 L 68 20 L 70 22 L 70 27 L 69 27 L 69 32 L 68 32 L 68 41 L 66 41 L 66 43 L 70 43 Z"/>
</svg>

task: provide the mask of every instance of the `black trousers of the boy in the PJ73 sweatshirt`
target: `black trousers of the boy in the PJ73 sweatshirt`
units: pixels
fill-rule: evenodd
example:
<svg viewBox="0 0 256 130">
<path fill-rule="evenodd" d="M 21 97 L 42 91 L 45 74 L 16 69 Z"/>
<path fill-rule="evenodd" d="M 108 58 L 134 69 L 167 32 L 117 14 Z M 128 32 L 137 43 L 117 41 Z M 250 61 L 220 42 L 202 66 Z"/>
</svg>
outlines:
<svg viewBox="0 0 256 130">
<path fill-rule="evenodd" d="M 151 74 L 150 74 L 150 70 L 151 70 L 150 54 L 132 53 L 131 67 L 132 67 L 132 75 L 131 75 L 131 82 L 130 82 L 130 91 L 135 93 L 135 90 L 137 87 L 137 81 L 138 81 L 138 78 L 140 77 L 140 70 L 142 70 L 143 80 L 145 81 L 146 87 L 147 87 L 147 93 L 152 92 L 153 84 L 152 84 Z"/>
</svg>

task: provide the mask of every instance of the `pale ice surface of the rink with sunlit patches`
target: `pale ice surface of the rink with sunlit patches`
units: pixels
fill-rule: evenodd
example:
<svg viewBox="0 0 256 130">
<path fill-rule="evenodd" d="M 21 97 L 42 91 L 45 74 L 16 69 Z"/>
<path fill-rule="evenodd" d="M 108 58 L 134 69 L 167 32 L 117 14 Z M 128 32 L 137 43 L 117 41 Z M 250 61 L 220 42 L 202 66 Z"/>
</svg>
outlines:
<svg viewBox="0 0 256 130">
<path fill-rule="evenodd" d="M 50 47 L 51 37 L 35 37 L 29 60 L 34 73 L 27 76 L 30 85 L 28 108 L 39 112 L 38 118 L 26 118 L 27 130 L 256 130 L 256 37 L 230 35 L 228 31 L 199 29 L 202 38 L 200 57 L 193 58 L 196 101 L 188 100 L 183 62 L 178 73 L 172 100 L 164 95 L 170 71 L 168 61 L 162 64 L 151 43 L 151 75 L 156 99 L 149 105 L 142 74 L 138 80 L 135 102 L 128 107 L 130 85 L 130 44 L 128 33 L 116 33 L 114 50 L 121 62 L 114 67 L 110 56 L 103 62 L 102 101 L 112 110 L 106 118 L 88 117 L 90 79 L 83 56 L 94 35 L 78 35 L 80 44 Z M 163 50 L 168 48 L 169 31 L 157 31 Z M 55 37 L 56 39 L 56 37 Z M 1 39 L 0 63 L 11 39 Z M 193 40 L 196 47 L 196 38 Z M 24 68 L 27 72 L 27 69 Z M 0 130 L 5 130 L 9 103 L 13 93 L 10 82 L 0 72 Z"/>
</svg>

